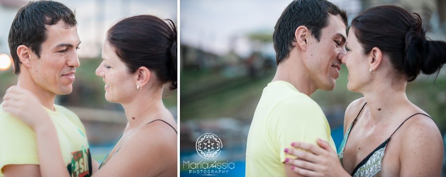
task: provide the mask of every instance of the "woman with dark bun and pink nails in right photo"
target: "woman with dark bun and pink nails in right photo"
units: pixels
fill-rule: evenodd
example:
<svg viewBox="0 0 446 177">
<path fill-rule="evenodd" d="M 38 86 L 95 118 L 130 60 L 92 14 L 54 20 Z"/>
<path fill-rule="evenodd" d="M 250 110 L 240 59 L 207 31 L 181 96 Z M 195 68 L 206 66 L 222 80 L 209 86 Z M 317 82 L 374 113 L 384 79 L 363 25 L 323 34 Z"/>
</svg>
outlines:
<svg viewBox="0 0 446 177">
<path fill-rule="evenodd" d="M 439 177 L 443 139 L 429 114 L 406 96 L 407 82 L 446 63 L 446 43 L 426 39 L 418 14 L 397 6 L 367 9 L 351 22 L 342 63 L 347 88 L 359 98 L 347 107 L 338 154 L 327 142 L 294 142 L 285 152 L 294 172 L 311 177 Z"/>
</svg>

